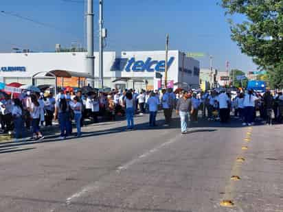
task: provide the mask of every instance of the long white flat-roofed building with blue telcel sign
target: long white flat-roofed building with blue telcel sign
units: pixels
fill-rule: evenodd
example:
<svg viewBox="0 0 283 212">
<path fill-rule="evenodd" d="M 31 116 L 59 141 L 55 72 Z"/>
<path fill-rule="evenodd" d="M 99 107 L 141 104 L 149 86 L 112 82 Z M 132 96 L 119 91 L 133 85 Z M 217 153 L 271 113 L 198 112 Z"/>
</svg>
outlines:
<svg viewBox="0 0 283 212">
<path fill-rule="evenodd" d="M 86 52 L 56 53 L 12 53 L 0 54 L 0 82 L 9 84 L 54 85 L 50 71 L 69 71 L 72 82 L 77 78 L 84 82 L 94 80 L 99 87 L 98 52 L 95 56 L 95 76 L 87 73 Z M 104 52 L 104 86 L 109 88 L 159 89 L 164 87 L 165 51 L 122 51 L 116 56 L 115 51 Z M 200 64 L 198 60 L 183 56 L 180 51 L 168 52 L 168 87 L 199 87 Z M 157 78 L 160 73 L 163 77 Z M 159 75 L 160 76 L 160 75 Z M 71 84 L 64 79 L 64 86 Z M 60 86 L 60 84 L 58 84 Z"/>
</svg>

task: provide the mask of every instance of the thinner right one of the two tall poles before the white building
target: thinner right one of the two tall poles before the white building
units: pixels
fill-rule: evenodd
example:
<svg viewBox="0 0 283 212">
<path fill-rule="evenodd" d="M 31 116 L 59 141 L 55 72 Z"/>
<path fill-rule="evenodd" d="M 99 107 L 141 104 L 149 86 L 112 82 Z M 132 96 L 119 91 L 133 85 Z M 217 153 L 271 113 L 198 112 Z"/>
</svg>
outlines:
<svg viewBox="0 0 283 212">
<path fill-rule="evenodd" d="M 104 51 L 104 28 L 103 28 L 103 0 L 99 1 L 99 78 L 103 89 L 103 51 Z"/>
</svg>

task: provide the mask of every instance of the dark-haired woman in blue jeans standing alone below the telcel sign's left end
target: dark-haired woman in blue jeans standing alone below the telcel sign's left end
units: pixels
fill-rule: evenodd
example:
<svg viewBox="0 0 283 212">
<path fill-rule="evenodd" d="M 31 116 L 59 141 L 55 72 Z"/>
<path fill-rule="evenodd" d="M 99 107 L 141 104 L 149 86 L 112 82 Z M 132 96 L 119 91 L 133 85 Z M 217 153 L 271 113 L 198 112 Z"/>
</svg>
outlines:
<svg viewBox="0 0 283 212">
<path fill-rule="evenodd" d="M 126 108 L 127 130 L 134 128 L 134 115 L 135 115 L 135 99 L 131 92 L 126 93 L 123 106 Z"/>
</svg>

